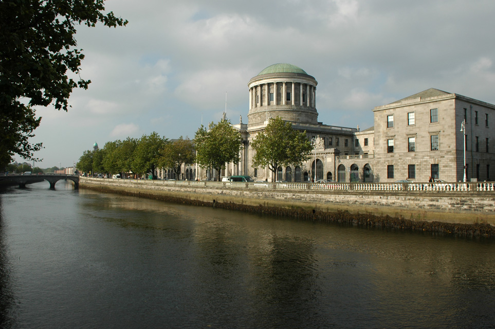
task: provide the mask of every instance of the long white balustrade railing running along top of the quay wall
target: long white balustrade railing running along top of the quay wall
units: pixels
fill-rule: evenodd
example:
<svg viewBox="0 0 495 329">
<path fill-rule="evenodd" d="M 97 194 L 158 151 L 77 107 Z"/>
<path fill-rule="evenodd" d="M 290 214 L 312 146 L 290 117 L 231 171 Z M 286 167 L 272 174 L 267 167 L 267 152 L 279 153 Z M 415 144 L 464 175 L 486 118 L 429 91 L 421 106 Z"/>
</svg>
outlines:
<svg viewBox="0 0 495 329">
<path fill-rule="evenodd" d="M 318 191 L 371 191 L 371 192 L 495 192 L 495 182 L 432 182 L 432 183 L 311 183 L 311 182 L 225 182 L 195 180 L 147 180 L 147 179 L 113 179 L 88 178 L 88 180 L 114 181 L 121 184 L 142 184 L 154 186 L 211 187 L 232 189 L 272 189 L 272 190 L 318 190 Z"/>
</svg>

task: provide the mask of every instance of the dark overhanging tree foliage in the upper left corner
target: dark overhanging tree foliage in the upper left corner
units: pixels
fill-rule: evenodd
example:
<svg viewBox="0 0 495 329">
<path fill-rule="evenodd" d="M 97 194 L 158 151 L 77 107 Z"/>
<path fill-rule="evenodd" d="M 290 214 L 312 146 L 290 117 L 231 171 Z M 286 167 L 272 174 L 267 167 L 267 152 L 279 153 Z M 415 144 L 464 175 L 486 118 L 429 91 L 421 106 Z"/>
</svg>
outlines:
<svg viewBox="0 0 495 329">
<path fill-rule="evenodd" d="M 72 89 L 87 89 L 90 80 L 75 81 L 84 58 L 77 49 L 76 27 L 126 25 L 113 12 L 103 13 L 104 0 L 0 1 L 0 168 L 14 154 L 32 160 L 41 143 L 29 138 L 40 125 L 32 106 L 67 111 Z"/>
</svg>

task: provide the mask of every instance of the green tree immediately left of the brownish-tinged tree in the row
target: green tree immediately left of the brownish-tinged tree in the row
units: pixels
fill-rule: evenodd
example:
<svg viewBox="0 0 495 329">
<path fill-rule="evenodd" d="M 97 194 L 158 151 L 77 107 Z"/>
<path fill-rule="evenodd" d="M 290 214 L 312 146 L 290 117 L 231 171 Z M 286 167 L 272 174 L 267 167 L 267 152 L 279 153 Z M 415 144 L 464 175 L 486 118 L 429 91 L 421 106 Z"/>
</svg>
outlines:
<svg viewBox="0 0 495 329">
<path fill-rule="evenodd" d="M 137 174 L 151 172 L 155 175 L 155 168 L 160 163 L 160 151 L 167 143 L 167 138 L 160 137 L 156 132 L 150 136 L 142 135 L 134 150 L 132 171 Z"/>
</svg>

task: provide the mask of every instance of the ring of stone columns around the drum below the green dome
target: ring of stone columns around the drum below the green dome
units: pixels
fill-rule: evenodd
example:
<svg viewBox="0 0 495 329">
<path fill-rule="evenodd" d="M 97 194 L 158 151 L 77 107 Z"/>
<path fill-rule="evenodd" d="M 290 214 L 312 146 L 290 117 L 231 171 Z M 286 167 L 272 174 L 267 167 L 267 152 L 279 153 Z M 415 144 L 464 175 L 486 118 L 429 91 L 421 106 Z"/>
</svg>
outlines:
<svg viewBox="0 0 495 329">
<path fill-rule="evenodd" d="M 282 99 L 277 99 L 277 86 L 279 83 L 282 83 Z M 291 84 L 291 94 L 290 94 L 290 103 L 287 104 L 287 83 Z M 299 83 L 299 104 L 296 104 L 296 83 Z M 263 100 L 263 85 L 265 85 L 265 99 Z M 273 86 L 273 104 L 270 104 L 271 100 L 270 96 L 270 85 Z M 304 93 L 306 90 L 306 93 Z M 306 95 L 306 99 L 303 98 L 303 95 Z M 304 99 L 304 101 L 303 101 Z M 261 107 L 266 105 L 300 105 L 307 107 L 316 107 L 316 86 L 311 85 L 309 83 L 302 82 L 265 82 L 262 84 L 255 85 L 249 88 L 249 109 L 254 107 Z"/>
</svg>

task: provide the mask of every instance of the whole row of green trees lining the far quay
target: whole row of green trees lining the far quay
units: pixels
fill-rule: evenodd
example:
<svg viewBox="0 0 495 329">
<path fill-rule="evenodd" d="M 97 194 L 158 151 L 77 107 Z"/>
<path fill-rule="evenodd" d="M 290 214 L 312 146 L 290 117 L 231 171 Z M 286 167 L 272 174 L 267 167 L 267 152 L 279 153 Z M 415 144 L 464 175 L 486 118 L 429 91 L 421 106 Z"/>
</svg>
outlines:
<svg viewBox="0 0 495 329">
<path fill-rule="evenodd" d="M 276 177 L 279 166 L 300 165 L 309 158 L 311 142 L 306 132 L 292 129 L 290 122 L 280 117 L 270 119 L 266 129 L 251 143 L 255 155 L 253 168 L 267 167 Z M 243 147 L 241 133 L 228 120 L 201 125 L 194 140 L 180 137 L 169 140 L 153 132 L 140 139 L 127 138 L 107 142 L 103 149 L 85 151 L 77 167 L 82 172 L 132 172 L 137 175 L 155 173 L 156 168 L 170 168 L 180 176 L 182 164 L 197 162 L 199 166 L 216 170 L 217 180 L 226 163 L 239 163 Z"/>
</svg>

